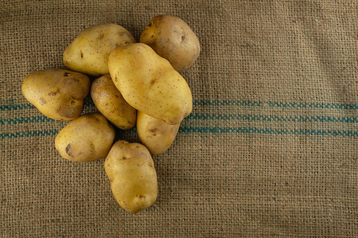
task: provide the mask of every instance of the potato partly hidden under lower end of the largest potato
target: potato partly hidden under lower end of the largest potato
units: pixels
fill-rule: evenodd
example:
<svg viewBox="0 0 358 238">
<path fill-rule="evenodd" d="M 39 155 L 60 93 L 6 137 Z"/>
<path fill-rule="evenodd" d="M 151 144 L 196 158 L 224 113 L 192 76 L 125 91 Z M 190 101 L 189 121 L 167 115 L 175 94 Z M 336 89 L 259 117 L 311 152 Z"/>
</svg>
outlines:
<svg viewBox="0 0 358 238">
<path fill-rule="evenodd" d="M 143 112 L 137 112 L 137 131 L 140 141 L 153 155 L 164 153 L 173 143 L 179 125 L 169 125 Z"/>
</svg>

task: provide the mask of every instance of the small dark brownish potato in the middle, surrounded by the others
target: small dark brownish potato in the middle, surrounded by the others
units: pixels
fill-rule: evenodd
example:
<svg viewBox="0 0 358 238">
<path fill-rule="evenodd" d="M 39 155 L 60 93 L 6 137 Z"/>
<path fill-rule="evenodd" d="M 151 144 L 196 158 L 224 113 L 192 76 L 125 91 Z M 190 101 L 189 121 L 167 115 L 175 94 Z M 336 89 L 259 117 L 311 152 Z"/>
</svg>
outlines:
<svg viewBox="0 0 358 238">
<path fill-rule="evenodd" d="M 103 75 L 92 82 L 91 97 L 98 110 L 116 127 L 127 130 L 135 125 L 136 109 L 124 100 L 111 75 Z"/>
</svg>

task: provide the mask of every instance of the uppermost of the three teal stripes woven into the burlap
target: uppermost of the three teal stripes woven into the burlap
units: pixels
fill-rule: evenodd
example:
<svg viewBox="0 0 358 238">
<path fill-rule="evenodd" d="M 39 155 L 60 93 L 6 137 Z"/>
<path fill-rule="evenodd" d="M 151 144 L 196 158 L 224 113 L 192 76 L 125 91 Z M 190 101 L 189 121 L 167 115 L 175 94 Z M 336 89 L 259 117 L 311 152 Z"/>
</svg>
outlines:
<svg viewBox="0 0 358 238">
<path fill-rule="evenodd" d="M 93 101 L 86 101 L 85 105 L 93 106 Z M 193 101 L 194 106 L 264 106 L 268 105 L 270 107 L 293 107 L 293 108 L 335 108 L 335 109 L 345 109 L 345 110 L 357 110 L 358 105 L 356 104 L 339 104 L 339 103 L 295 103 L 295 102 L 259 102 L 259 101 Z M 21 104 L 21 105 L 3 105 L 0 106 L 0 110 L 17 110 L 24 108 L 33 108 L 34 106 L 30 103 Z"/>
</svg>

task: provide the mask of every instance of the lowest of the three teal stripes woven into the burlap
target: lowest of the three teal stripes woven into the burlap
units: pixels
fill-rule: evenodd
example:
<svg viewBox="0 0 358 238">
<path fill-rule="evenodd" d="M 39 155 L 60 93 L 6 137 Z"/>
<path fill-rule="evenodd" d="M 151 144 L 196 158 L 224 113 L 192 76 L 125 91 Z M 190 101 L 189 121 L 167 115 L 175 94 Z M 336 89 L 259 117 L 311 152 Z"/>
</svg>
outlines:
<svg viewBox="0 0 358 238">
<path fill-rule="evenodd" d="M 135 132 L 136 128 L 132 128 L 129 132 Z M 269 128 L 259 129 L 250 127 L 238 128 L 221 128 L 221 127 L 180 127 L 179 132 L 187 133 L 258 133 L 258 134 L 271 134 L 271 135 L 320 135 L 320 136 L 358 136 L 357 131 L 328 131 L 328 130 L 311 130 L 311 129 L 298 129 L 298 130 L 272 130 Z M 15 138 L 15 137 L 31 137 L 31 136 L 48 136 L 56 135 L 57 130 L 50 131 L 32 131 L 32 132 L 16 132 L 0 134 L 0 139 Z"/>
</svg>

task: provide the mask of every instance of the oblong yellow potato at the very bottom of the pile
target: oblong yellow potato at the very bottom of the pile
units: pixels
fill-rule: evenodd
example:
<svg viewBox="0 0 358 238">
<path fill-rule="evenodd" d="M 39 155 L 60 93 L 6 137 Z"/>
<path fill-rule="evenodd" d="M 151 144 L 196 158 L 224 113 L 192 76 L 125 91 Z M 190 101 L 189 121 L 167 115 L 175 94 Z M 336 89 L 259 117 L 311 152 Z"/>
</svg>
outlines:
<svg viewBox="0 0 358 238">
<path fill-rule="evenodd" d="M 116 201 L 127 212 L 140 212 L 155 202 L 157 176 L 145 146 L 117 141 L 108 153 L 105 170 Z"/>
</svg>

